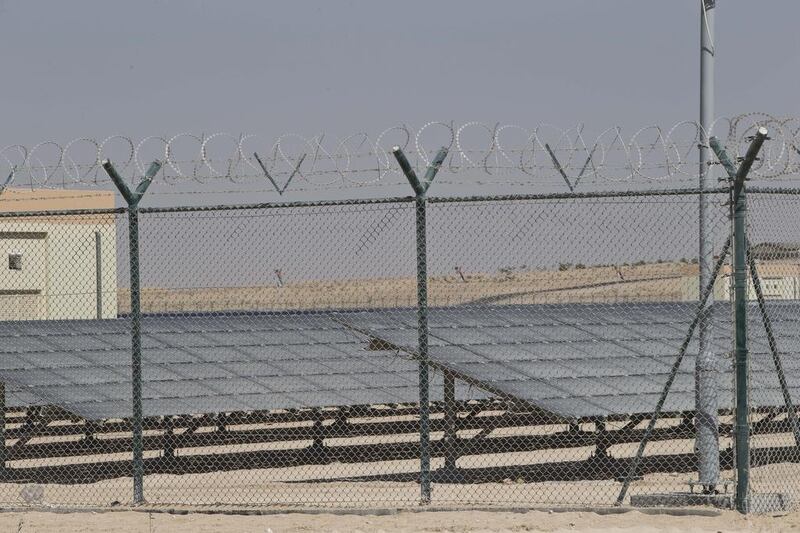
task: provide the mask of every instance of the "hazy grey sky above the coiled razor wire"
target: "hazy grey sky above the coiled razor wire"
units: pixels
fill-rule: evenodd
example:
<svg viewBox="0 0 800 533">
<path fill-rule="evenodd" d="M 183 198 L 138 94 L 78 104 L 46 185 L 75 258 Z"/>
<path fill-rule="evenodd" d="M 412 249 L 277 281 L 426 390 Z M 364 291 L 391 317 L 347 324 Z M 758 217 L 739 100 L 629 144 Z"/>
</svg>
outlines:
<svg viewBox="0 0 800 533">
<path fill-rule="evenodd" d="M 0 146 L 694 120 L 699 4 L 7 0 Z M 797 114 L 800 2 L 716 11 L 718 114 Z"/>
</svg>

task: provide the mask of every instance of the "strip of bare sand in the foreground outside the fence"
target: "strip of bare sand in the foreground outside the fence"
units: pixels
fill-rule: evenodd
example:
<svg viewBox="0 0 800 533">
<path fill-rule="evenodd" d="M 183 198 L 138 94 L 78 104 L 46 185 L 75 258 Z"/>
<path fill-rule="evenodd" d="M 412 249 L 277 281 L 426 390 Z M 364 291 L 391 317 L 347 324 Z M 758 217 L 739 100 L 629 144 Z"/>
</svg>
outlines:
<svg viewBox="0 0 800 533">
<path fill-rule="evenodd" d="M 800 513 L 780 516 L 742 516 L 732 511 L 673 516 L 628 511 L 500 512 L 441 511 L 399 512 L 387 515 L 274 514 L 242 516 L 223 514 L 8 512 L 0 514 L 1 532 L 378 532 L 378 531 L 794 531 Z"/>
</svg>

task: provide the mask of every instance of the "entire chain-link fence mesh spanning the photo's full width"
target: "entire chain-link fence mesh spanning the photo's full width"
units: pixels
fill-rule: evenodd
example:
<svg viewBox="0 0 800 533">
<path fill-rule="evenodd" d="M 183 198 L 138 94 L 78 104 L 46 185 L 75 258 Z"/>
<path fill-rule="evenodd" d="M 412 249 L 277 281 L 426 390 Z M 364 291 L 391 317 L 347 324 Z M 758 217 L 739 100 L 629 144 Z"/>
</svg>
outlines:
<svg viewBox="0 0 800 533">
<path fill-rule="evenodd" d="M 2 213 L 0 499 L 733 505 L 705 198 L 708 287 L 696 190 Z M 748 201 L 751 491 L 785 508 L 800 193 Z"/>
</svg>

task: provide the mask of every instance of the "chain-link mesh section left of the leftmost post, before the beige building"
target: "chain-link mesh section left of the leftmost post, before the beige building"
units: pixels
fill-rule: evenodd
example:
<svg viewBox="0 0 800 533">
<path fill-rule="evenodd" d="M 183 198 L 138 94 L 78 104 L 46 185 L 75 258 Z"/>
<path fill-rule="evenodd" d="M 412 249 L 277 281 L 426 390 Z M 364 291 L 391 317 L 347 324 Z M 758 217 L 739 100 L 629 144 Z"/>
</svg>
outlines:
<svg viewBox="0 0 800 533">
<path fill-rule="evenodd" d="M 118 462 L 129 455 L 129 422 L 90 422 L 71 409 L 130 401 L 129 327 L 118 318 L 125 236 L 125 217 L 113 210 L 0 218 L 5 504 L 131 501 Z M 127 360 L 109 359 L 115 350 Z"/>
</svg>

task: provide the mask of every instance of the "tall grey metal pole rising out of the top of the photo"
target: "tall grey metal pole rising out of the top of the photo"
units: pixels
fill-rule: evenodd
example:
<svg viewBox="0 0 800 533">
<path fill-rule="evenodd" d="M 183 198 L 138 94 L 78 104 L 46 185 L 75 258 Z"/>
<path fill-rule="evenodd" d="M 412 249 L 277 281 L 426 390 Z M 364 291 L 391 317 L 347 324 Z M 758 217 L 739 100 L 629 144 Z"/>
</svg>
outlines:
<svg viewBox="0 0 800 533">
<path fill-rule="evenodd" d="M 703 191 L 715 186 L 712 183 L 710 129 L 714 123 L 714 9 L 716 0 L 701 0 L 700 5 L 700 291 L 711 279 L 714 262 L 712 238 L 711 199 Z M 697 328 L 698 355 L 695 361 L 695 449 L 697 451 L 698 481 L 706 493 L 719 482 L 719 400 L 717 390 L 717 355 L 713 352 L 712 311 L 713 291 L 703 304 Z"/>
</svg>

